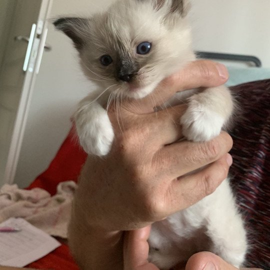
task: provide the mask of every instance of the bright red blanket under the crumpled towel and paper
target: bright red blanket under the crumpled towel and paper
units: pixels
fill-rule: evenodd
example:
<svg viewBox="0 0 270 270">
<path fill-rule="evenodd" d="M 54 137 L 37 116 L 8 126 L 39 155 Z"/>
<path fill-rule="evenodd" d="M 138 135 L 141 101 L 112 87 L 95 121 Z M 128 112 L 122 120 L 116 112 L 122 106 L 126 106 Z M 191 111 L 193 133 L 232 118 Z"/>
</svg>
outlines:
<svg viewBox="0 0 270 270">
<path fill-rule="evenodd" d="M 56 193 L 56 186 L 61 181 L 77 181 L 86 153 L 77 144 L 74 132 L 71 130 L 62 143 L 49 167 L 40 174 L 28 187 L 40 187 L 51 195 Z M 78 270 L 72 259 L 68 246 L 62 244 L 45 257 L 29 264 L 27 267 L 54 270 Z"/>
</svg>

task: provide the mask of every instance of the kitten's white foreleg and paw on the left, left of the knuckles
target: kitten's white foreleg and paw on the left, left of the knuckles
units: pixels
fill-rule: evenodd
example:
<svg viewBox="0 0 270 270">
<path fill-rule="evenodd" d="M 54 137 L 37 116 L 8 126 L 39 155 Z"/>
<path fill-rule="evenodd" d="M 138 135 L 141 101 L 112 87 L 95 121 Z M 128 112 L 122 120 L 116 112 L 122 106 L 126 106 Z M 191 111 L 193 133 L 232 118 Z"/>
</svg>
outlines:
<svg viewBox="0 0 270 270">
<path fill-rule="evenodd" d="M 114 132 L 106 113 L 97 102 L 80 107 L 74 115 L 80 145 L 88 154 L 106 155 L 114 138 Z"/>
</svg>

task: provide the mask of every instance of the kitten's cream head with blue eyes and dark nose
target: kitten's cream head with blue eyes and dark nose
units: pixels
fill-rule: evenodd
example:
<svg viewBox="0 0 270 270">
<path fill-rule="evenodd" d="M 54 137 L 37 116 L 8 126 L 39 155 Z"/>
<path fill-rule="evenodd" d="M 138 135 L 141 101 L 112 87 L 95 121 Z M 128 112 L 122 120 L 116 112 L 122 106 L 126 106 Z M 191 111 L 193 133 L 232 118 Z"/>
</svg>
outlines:
<svg viewBox="0 0 270 270">
<path fill-rule="evenodd" d="M 73 39 L 88 78 L 141 98 L 193 58 L 183 13 L 171 9 L 174 0 L 162 2 L 121 0 L 90 19 L 69 18 L 68 30 L 55 25 Z"/>
</svg>

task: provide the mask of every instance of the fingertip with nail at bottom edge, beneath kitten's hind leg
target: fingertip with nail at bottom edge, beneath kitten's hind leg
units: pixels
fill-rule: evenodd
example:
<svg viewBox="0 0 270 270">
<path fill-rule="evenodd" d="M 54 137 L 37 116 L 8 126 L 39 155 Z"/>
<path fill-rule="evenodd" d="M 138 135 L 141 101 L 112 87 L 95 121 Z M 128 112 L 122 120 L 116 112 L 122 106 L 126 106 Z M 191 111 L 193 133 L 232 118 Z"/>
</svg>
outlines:
<svg viewBox="0 0 270 270">
<path fill-rule="evenodd" d="M 258 268 L 249 268 L 251 269 Z M 188 259 L 185 270 L 238 270 L 238 268 L 211 252 L 199 252 Z"/>
</svg>

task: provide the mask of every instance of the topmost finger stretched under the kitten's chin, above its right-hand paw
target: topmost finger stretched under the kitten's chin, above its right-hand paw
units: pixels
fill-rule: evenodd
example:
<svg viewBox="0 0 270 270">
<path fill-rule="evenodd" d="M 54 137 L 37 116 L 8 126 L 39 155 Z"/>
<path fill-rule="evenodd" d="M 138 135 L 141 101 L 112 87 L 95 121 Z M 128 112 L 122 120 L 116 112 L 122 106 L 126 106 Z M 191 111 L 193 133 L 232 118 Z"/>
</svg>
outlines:
<svg viewBox="0 0 270 270">
<path fill-rule="evenodd" d="M 123 101 L 123 107 L 136 114 L 151 113 L 155 106 L 164 104 L 173 94 L 198 87 L 214 87 L 224 84 L 228 72 L 223 64 L 210 60 L 196 60 L 179 72 L 163 79 L 156 89 L 141 99 Z"/>
</svg>

